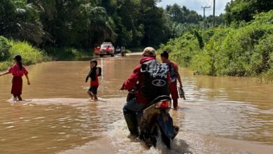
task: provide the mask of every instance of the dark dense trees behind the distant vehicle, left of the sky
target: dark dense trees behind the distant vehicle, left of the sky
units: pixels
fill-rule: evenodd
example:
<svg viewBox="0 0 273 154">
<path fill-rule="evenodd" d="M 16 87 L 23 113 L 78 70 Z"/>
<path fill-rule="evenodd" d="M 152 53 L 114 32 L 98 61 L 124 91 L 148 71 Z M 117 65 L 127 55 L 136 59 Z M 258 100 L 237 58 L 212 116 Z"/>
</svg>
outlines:
<svg viewBox="0 0 273 154">
<path fill-rule="evenodd" d="M 158 0 L 3 0 L 0 35 L 40 48 L 158 46 L 193 29 L 202 16 L 177 4 L 164 10 Z M 177 15 L 177 17 L 175 15 Z"/>
</svg>

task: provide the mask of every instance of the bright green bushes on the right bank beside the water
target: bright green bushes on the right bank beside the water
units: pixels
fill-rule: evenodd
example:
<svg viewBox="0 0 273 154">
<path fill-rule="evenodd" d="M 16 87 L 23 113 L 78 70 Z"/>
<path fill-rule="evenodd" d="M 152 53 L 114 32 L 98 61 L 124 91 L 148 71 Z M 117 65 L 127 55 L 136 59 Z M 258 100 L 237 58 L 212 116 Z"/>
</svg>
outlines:
<svg viewBox="0 0 273 154">
<path fill-rule="evenodd" d="M 228 76 L 272 75 L 273 10 L 251 22 L 204 31 L 188 31 L 161 45 L 170 57 L 196 73 Z M 204 43 L 204 48 L 202 46 Z M 271 77 L 272 78 L 272 77 Z"/>
</svg>

